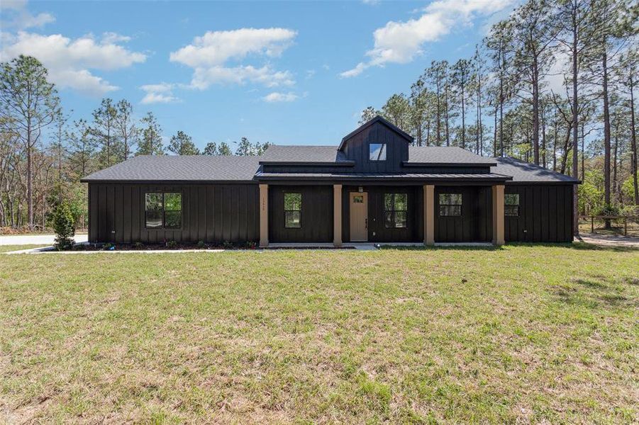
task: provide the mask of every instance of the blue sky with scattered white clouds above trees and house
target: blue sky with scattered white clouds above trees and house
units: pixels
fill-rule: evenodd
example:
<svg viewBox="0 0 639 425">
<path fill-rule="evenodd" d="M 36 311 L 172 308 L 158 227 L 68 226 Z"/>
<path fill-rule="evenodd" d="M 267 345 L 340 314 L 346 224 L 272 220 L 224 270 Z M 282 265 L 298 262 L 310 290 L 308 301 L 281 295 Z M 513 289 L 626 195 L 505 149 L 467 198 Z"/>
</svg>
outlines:
<svg viewBox="0 0 639 425">
<path fill-rule="evenodd" d="M 514 0 L 0 3 L 2 62 L 37 57 L 71 119 L 126 98 L 208 142 L 338 145 L 432 60 L 470 57 Z"/>
</svg>

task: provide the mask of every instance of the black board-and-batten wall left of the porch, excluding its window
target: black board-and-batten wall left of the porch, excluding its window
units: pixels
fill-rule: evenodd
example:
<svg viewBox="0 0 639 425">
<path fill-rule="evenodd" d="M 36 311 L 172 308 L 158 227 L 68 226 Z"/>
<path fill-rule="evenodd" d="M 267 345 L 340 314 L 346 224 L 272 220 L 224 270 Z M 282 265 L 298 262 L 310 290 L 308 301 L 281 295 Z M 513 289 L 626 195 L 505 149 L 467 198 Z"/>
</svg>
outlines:
<svg viewBox="0 0 639 425">
<path fill-rule="evenodd" d="M 182 193 L 182 228 L 147 229 L 145 193 Z M 89 183 L 89 242 L 247 242 L 260 239 L 256 184 Z"/>
</svg>

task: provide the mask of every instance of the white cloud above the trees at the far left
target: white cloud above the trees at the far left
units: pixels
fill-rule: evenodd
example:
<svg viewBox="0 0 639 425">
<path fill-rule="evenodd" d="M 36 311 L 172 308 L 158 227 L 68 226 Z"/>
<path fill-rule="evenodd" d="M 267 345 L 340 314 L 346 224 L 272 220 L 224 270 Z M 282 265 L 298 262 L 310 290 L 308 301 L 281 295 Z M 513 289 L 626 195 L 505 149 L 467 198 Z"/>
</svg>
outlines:
<svg viewBox="0 0 639 425">
<path fill-rule="evenodd" d="M 123 36 L 118 38 L 124 40 Z M 91 74 L 89 69 L 122 69 L 146 60 L 143 53 L 128 50 L 114 40 L 113 34 L 97 42 L 91 35 L 71 40 L 61 34 L 20 31 L 6 39 L 0 57 L 4 61 L 18 55 L 33 56 L 48 68 L 50 81 L 57 86 L 101 96 L 118 87 Z"/>
</svg>

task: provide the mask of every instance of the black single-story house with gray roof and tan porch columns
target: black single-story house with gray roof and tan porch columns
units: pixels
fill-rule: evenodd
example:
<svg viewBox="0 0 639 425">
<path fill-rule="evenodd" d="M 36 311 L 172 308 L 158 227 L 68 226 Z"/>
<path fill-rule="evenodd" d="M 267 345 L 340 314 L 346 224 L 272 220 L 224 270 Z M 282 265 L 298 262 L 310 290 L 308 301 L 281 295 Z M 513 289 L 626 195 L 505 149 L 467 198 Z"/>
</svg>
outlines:
<svg viewBox="0 0 639 425">
<path fill-rule="evenodd" d="M 571 242 L 577 179 L 377 117 L 338 146 L 140 156 L 82 179 L 89 242 Z"/>
</svg>

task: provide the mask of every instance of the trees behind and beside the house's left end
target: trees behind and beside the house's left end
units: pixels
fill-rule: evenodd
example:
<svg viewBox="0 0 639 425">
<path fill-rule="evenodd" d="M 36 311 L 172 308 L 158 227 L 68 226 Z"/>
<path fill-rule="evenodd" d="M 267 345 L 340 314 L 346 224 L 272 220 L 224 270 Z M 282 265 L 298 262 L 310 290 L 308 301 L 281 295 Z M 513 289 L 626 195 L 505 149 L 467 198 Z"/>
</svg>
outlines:
<svg viewBox="0 0 639 425">
<path fill-rule="evenodd" d="M 55 206 L 70 205 L 79 227 L 87 188 L 79 179 L 137 155 L 261 155 L 269 143 L 246 137 L 200 150 L 178 131 L 165 142 L 152 112 L 138 119 L 126 99 L 102 99 L 89 118 L 71 120 L 48 71 L 34 57 L 0 64 L 0 227 L 45 228 Z"/>
</svg>

